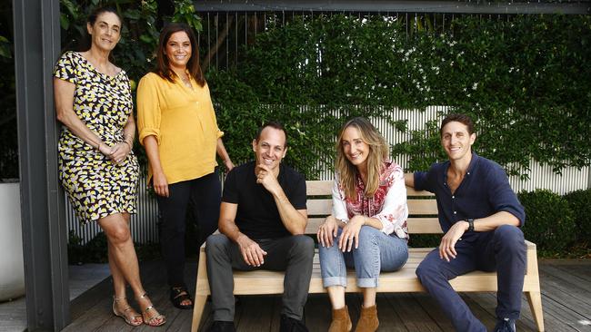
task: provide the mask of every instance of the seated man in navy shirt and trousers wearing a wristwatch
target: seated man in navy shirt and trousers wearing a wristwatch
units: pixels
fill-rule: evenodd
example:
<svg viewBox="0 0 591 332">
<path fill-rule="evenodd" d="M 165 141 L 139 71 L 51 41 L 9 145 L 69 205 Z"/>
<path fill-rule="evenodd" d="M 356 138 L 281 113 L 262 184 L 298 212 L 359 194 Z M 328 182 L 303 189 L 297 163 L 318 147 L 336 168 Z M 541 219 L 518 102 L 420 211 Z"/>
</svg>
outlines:
<svg viewBox="0 0 591 332">
<path fill-rule="evenodd" d="M 486 331 L 449 279 L 473 270 L 497 272 L 497 324 L 494 331 L 515 331 L 526 269 L 526 244 L 519 229 L 526 220 L 506 172 L 472 151 L 474 123 L 450 114 L 441 123 L 441 145 L 449 161 L 429 171 L 406 175 L 406 185 L 436 194 L 439 223 L 445 232 L 438 249 L 416 269 L 457 331 Z"/>
</svg>

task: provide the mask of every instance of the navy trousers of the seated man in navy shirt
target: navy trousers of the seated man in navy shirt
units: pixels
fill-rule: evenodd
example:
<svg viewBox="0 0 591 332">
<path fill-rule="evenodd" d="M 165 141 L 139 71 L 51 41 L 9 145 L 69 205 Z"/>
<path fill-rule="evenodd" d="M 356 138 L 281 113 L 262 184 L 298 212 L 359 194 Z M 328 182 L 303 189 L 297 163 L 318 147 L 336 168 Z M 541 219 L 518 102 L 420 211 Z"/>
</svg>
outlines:
<svg viewBox="0 0 591 332">
<path fill-rule="evenodd" d="M 496 317 L 517 319 L 526 272 L 526 242 L 521 229 L 504 225 L 493 231 L 468 234 L 456 243 L 456 259 L 439 258 L 431 251 L 416 269 L 416 276 L 436 298 L 456 331 L 485 331 L 448 280 L 473 270 L 497 272 Z"/>
</svg>

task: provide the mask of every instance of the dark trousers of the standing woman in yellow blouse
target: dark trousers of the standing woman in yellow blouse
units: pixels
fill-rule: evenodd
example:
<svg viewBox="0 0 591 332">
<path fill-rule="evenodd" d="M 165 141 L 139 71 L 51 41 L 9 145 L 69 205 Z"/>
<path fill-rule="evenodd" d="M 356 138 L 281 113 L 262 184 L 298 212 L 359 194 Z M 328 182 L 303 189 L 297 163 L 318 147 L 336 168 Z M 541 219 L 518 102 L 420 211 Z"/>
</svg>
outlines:
<svg viewBox="0 0 591 332">
<path fill-rule="evenodd" d="M 169 197 L 157 196 L 160 210 L 160 247 L 168 285 L 185 287 L 185 220 L 191 207 L 199 228 L 197 244 L 217 229 L 221 185 L 217 171 L 201 178 L 168 185 Z"/>
</svg>

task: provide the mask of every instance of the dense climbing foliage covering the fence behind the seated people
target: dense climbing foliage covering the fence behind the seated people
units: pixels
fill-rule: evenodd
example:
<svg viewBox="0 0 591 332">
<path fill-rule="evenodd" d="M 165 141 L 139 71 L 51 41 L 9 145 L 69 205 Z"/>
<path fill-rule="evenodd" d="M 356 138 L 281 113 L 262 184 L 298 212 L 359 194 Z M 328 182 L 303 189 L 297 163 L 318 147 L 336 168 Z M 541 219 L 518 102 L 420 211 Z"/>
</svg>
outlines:
<svg viewBox="0 0 591 332">
<path fill-rule="evenodd" d="M 277 118 L 296 127 L 288 162 L 313 179 L 332 165 L 346 119 L 446 105 L 473 116 L 476 151 L 509 174 L 526 177 L 531 159 L 556 172 L 591 162 L 591 16 L 457 16 L 445 34 L 431 25 L 407 35 L 402 20 L 383 16 L 271 22 L 237 68 L 208 76 L 230 154 L 248 157 L 243 138 Z M 410 156 L 407 171 L 445 159 L 436 122 L 411 134 L 392 149 Z"/>
</svg>

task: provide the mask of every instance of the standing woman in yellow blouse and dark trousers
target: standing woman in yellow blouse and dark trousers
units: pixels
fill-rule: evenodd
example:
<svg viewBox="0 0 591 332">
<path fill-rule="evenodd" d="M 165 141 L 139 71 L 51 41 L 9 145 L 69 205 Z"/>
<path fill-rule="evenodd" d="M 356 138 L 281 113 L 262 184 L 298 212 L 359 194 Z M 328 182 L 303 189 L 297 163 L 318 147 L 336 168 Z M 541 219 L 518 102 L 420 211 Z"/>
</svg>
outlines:
<svg viewBox="0 0 591 332">
<path fill-rule="evenodd" d="M 160 210 L 160 245 L 176 308 L 193 308 L 185 285 L 185 214 L 195 209 L 199 245 L 217 229 L 221 185 L 215 153 L 234 167 L 217 128 L 199 65 L 195 34 L 168 24 L 160 34 L 156 69 L 137 87 L 139 142 L 148 156 L 148 181 Z"/>
</svg>

